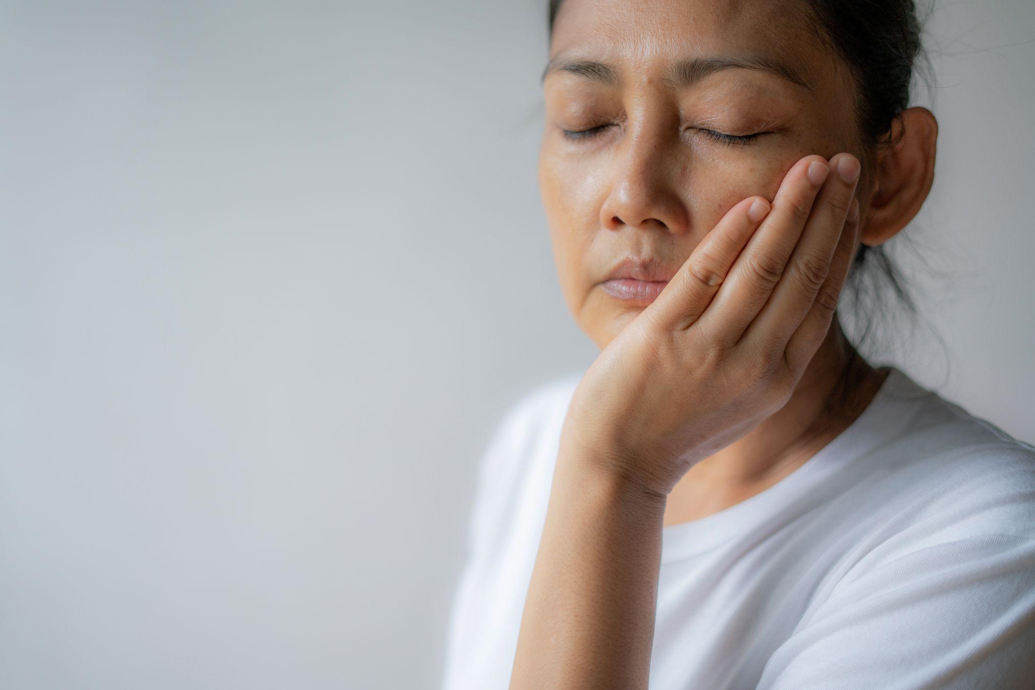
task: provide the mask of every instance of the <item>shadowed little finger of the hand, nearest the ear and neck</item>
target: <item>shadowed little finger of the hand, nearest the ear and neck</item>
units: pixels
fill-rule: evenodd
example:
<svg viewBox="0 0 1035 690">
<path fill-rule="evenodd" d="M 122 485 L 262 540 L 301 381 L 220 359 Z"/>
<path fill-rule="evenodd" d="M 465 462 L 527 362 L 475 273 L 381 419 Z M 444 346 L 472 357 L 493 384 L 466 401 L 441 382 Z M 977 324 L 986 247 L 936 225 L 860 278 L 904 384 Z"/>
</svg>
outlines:
<svg viewBox="0 0 1035 690">
<path fill-rule="evenodd" d="M 834 249 L 827 279 L 816 295 L 812 307 L 787 343 L 783 358 L 796 379 L 805 370 L 805 365 L 811 361 L 823 338 L 827 336 L 830 321 L 837 308 L 837 298 L 840 296 L 852 263 L 852 256 L 855 253 L 860 224 L 859 200 L 854 199 L 852 207 L 849 209 L 848 218 L 845 220 L 845 230 L 837 242 L 837 248 Z"/>
</svg>

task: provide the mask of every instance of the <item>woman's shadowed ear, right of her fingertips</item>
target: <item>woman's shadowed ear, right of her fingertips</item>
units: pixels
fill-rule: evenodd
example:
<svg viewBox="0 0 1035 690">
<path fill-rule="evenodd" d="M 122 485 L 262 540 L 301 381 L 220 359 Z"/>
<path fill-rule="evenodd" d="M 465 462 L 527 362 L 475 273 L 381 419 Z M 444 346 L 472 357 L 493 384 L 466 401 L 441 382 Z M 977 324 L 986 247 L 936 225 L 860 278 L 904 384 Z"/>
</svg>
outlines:
<svg viewBox="0 0 1035 690">
<path fill-rule="evenodd" d="M 862 244 L 894 237 L 919 212 L 935 182 L 938 120 L 930 111 L 920 106 L 903 111 L 891 123 L 890 141 L 895 143 L 877 152 L 874 193 L 859 233 Z"/>
</svg>

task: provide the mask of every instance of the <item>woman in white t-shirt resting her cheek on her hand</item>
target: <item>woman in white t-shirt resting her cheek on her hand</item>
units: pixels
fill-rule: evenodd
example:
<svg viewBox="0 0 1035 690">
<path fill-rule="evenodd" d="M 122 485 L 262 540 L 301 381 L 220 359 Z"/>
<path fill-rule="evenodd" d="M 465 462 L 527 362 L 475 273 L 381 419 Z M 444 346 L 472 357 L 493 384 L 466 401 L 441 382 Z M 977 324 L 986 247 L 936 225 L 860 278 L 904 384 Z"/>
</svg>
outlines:
<svg viewBox="0 0 1035 690">
<path fill-rule="evenodd" d="M 485 453 L 444 687 L 1035 687 L 1035 448 L 834 312 L 931 186 L 913 3 L 550 17 L 539 181 L 601 353 Z"/>
</svg>

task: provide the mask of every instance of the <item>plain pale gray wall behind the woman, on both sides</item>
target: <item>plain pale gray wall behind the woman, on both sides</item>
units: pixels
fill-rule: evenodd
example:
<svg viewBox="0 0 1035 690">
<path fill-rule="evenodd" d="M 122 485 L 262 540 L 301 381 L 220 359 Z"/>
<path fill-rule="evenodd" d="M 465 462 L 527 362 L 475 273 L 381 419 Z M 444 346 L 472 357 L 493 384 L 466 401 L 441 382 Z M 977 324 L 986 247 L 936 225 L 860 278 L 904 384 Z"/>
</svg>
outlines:
<svg viewBox="0 0 1035 690">
<path fill-rule="evenodd" d="M 0 5 L 0 686 L 439 682 L 478 456 L 596 354 L 535 181 L 544 7 Z M 1033 39 L 1031 0 L 927 25 L 891 247 L 931 328 L 868 353 L 1026 441 Z"/>
</svg>

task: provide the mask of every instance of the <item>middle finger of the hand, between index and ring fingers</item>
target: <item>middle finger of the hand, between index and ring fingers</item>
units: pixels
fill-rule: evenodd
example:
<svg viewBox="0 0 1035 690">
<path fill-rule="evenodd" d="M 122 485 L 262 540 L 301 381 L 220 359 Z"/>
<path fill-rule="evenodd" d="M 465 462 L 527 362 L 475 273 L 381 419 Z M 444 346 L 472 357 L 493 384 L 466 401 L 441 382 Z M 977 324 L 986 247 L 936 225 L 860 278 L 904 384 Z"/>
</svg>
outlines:
<svg viewBox="0 0 1035 690">
<path fill-rule="evenodd" d="M 698 320 L 702 329 L 720 339 L 720 344 L 736 344 L 769 299 L 829 172 L 826 158 L 808 155 L 783 176 L 772 211 L 740 252 L 726 281 Z"/>
</svg>

